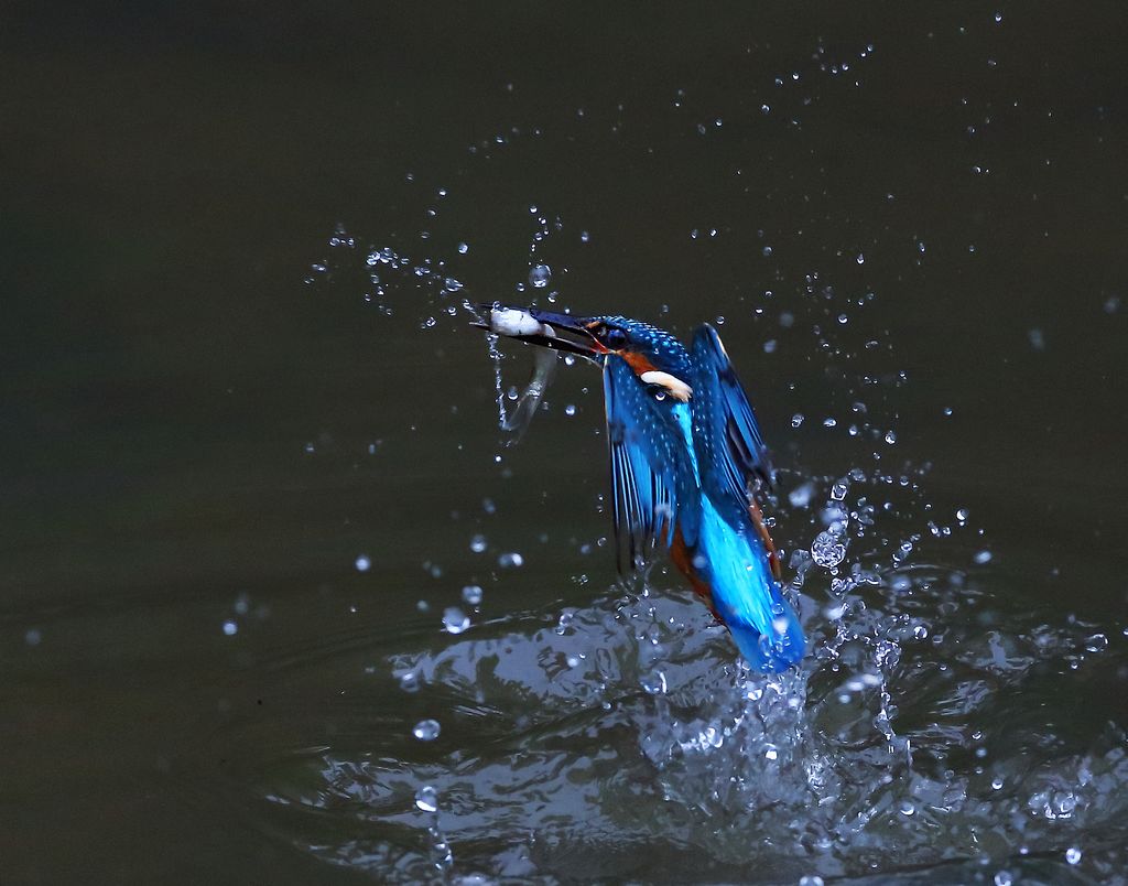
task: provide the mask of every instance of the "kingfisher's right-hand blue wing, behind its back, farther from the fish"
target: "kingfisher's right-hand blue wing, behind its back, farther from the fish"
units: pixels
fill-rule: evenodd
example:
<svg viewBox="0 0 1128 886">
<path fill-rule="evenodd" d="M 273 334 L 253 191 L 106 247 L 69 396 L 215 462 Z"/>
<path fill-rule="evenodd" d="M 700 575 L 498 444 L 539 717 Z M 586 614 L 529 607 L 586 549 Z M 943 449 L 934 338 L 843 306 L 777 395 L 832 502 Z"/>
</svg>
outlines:
<svg viewBox="0 0 1128 886">
<path fill-rule="evenodd" d="M 756 415 L 737 370 L 721 344 L 721 336 L 707 323 L 694 333 L 694 416 L 708 435 L 695 435 L 702 476 L 723 477 L 728 491 L 741 501 L 756 480 L 773 483 L 772 462 Z"/>
</svg>

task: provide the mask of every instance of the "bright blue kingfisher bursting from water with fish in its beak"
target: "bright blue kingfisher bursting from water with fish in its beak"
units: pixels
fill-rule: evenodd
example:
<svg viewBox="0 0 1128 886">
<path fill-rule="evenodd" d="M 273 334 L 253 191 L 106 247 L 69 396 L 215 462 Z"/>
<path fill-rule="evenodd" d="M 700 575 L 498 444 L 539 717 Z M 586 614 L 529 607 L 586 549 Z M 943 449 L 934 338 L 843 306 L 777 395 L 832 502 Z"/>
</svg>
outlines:
<svg viewBox="0 0 1128 886">
<path fill-rule="evenodd" d="M 687 349 L 628 317 L 497 302 L 479 312 L 477 326 L 601 367 L 619 572 L 664 549 L 751 667 L 799 663 L 803 631 L 757 502 L 773 468 L 716 330 L 703 324 Z"/>
</svg>

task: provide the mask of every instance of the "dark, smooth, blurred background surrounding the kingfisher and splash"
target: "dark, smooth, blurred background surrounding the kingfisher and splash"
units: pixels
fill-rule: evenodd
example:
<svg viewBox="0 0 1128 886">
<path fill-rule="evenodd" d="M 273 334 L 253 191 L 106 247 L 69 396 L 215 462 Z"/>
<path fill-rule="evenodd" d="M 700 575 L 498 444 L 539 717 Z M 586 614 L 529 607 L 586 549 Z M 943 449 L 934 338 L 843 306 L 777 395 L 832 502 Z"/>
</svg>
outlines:
<svg viewBox="0 0 1128 886">
<path fill-rule="evenodd" d="M 441 313 L 460 297 L 405 272 L 367 301 L 370 247 L 527 298 L 536 217 L 558 218 L 538 249 L 558 304 L 680 333 L 723 316 L 783 467 L 869 464 L 843 433 L 864 395 L 933 465 L 936 510 L 985 529 L 995 593 L 1122 625 L 1126 23 L 1111 2 L 5 5 L 5 879 L 361 876 L 252 799 L 258 757 L 409 726 L 390 684 L 326 712 L 318 663 L 437 642 L 415 600 L 457 598 L 486 524 L 527 560 L 487 588 L 495 615 L 582 605 L 559 580 L 580 569 L 613 581 L 579 552 L 606 532 L 596 377 L 566 374 L 579 415 L 499 467 L 492 367 Z"/>
</svg>

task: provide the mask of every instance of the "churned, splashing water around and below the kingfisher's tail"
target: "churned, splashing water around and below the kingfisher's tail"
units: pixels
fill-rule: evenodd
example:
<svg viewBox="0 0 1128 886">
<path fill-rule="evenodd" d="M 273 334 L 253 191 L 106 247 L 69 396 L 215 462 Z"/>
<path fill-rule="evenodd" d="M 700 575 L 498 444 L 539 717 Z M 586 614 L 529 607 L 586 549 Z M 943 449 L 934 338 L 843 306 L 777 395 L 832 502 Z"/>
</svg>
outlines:
<svg viewBox="0 0 1128 886">
<path fill-rule="evenodd" d="M 1128 812 L 1125 736 L 1110 727 L 1100 746 L 1070 748 L 1024 700 L 1047 670 L 1100 663 L 1107 634 L 999 609 L 962 569 L 910 563 L 901 540 L 918 534 L 893 518 L 882 529 L 889 511 L 867 499 L 887 484 L 860 475 L 808 481 L 826 506 L 783 512 L 811 514 L 814 533 L 792 547 L 813 650 L 802 669 L 748 672 L 725 629 L 658 568 L 636 593 L 394 656 L 384 670 L 413 675 L 405 699 L 447 699 L 443 734 L 448 720 L 452 735 L 472 728 L 474 752 L 326 751 L 297 762 L 314 793 L 272 796 L 374 813 L 367 837 L 309 851 L 404 881 L 661 869 L 774 883 L 961 861 L 972 867 L 952 881 L 1066 881 L 1073 858 L 1114 863 L 1114 839 L 1081 835 Z M 820 560 L 827 532 L 841 551 Z M 968 562 L 972 550 L 952 553 Z M 413 832 L 422 844 L 405 842 Z"/>
</svg>

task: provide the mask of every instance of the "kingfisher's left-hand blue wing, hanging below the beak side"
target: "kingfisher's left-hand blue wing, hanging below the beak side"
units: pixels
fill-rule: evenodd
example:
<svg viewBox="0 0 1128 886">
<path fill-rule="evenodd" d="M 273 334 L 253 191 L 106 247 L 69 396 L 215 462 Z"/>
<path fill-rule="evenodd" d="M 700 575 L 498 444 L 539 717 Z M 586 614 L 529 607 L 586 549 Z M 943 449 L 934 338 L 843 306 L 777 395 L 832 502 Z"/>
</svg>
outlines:
<svg viewBox="0 0 1128 886">
<path fill-rule="evenodd" d="M 655 541 L 669 547 L 678 527 L 696 540 L 696 511 L 684 506 L 697 494 L 697 480 L 672 404 L 659 402 L 615 354 L 603 366 L 603 400 L 618 567 L 628 572 Z"/>
</svg>

